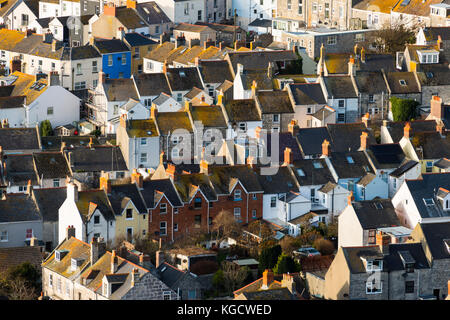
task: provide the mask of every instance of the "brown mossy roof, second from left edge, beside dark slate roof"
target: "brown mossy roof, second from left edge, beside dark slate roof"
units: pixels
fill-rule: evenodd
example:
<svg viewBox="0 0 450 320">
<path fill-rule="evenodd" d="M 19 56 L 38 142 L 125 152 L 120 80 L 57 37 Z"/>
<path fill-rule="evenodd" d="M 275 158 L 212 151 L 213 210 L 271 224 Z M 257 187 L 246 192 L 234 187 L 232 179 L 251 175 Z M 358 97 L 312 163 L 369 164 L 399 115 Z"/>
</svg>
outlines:
<svg viewBox="0 0 450 320">
<path fill-rule="evenodd" d="M 71 175 L 66 158 L 61 152 L 34 153 L 33 160 L 40 179 L 61 179 Z"/>
</svg>

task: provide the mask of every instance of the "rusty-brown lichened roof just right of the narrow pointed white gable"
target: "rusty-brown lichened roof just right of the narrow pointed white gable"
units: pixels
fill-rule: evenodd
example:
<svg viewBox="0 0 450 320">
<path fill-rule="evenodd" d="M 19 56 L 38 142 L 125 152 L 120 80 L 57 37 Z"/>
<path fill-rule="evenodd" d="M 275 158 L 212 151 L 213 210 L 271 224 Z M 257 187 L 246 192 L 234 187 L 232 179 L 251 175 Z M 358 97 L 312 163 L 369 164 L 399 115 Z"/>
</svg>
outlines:
<svg viewBox="0 0 450 320">
<path fill-rule="evenodd" d="M 287 91 L 259 91 L 256 101 L 262 114 L 294 113 Z"/>
</svg>

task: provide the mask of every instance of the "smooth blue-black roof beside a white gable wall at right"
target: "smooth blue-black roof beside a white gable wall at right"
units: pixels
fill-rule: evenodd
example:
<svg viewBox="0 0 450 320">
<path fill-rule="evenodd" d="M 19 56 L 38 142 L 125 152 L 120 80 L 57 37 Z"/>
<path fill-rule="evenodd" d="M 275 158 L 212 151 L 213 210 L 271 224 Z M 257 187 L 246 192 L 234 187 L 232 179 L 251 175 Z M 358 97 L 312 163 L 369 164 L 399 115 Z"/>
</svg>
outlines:
<svg viewBox="0 0 450 320">
<path fill-rule="evenodd" d="M 377 169 L 397 168 L 405 159 L 398 143 L 371 144 L 366 152 Z"/>
</svg>

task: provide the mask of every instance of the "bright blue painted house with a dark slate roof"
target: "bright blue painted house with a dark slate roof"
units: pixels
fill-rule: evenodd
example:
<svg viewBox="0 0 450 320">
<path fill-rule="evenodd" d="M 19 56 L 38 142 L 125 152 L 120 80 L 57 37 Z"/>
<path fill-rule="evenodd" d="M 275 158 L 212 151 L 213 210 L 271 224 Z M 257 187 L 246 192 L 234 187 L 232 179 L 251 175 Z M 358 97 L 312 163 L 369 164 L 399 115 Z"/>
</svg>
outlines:
<svg viewBox="0 0 450 320">
<path fill-rule="evenodd" d="M 102 71 L 110 79 L 131 77 L 131 50 L 120 39 L 95 39 L 94 46 L 102 55 Z"/>
</svg>

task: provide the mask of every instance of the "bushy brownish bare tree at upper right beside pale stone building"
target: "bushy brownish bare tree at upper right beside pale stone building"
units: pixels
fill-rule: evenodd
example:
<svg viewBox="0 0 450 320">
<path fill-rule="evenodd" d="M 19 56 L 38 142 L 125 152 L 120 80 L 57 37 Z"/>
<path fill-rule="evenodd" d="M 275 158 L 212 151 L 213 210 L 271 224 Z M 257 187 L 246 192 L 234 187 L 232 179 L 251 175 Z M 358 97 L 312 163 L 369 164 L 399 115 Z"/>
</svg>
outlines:
<svg viewBox="0 0 450 320">
<path fill-rule="evenodd" d="M 416 28 L 405 23 L 387 23 L 375 34 L 374 45 L 380 53 L 395 54 L 404 51 L 407 43 L 415 43 Z"/>
</svg>

